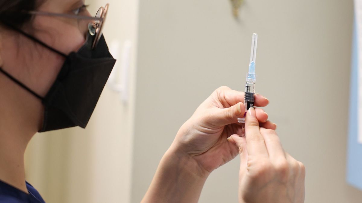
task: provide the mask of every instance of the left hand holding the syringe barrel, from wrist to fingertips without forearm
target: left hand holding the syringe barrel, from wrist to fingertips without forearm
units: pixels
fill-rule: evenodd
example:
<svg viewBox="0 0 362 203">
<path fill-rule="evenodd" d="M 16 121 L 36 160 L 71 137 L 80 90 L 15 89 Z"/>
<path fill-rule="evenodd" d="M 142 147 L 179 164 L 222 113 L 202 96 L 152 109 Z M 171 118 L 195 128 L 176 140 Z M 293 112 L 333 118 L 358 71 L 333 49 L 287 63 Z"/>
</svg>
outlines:
<svg viewBox="0 0 362 203">
<path fill-rule="evenodd" d="M 255 106 L 264 107 L 269 101 L 256 94 Z M 212 170 L 232 160 L 239 154 L 235 144 L 227 141 L 232 134 L 241 135 L 242 125 L 237 118 L 244 117 L 244 92 L 220 87 L 207 98 L 181 126 L 171 148 L 178 156 L 188 156 L 185 165 L 191 172 L 208 176 Z M 268 115 L 256 109 L 256 117 L 264 128 L 275 129 L 267 121 Z"/>
</svg>

